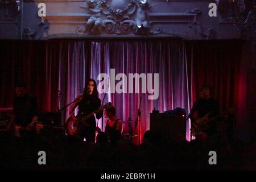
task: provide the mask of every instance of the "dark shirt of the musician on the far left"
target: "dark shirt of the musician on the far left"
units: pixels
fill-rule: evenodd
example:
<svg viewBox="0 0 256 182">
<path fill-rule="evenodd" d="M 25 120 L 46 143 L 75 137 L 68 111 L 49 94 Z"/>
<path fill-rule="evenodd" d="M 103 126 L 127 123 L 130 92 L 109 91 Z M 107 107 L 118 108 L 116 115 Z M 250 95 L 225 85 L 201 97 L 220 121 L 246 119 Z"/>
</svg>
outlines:
<svg viewBox="0 0 256 182">
<path fill-rule="evenodd" d="M 31 123 L 32 118 L 38 114 L 36 98 L 30 94 L 22 97 L 16 96 L 13 104 L 13 114 L 15 115 L 16 125 L 26 127 Z"/>
</svg>

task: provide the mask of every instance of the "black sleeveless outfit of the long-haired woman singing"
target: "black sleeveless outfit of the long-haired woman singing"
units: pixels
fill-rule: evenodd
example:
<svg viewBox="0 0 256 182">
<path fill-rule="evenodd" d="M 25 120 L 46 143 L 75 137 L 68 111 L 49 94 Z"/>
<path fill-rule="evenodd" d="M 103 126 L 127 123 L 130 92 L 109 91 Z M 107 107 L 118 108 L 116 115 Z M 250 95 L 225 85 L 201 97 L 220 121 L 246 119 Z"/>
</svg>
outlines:
<svg viewBox="0 0 256 182">
<path fill-rule="evenodd" d="M 84 94 L 82 100 L 79 102 L 79 116 L 85 116 L 97 110 L 101 106 L 101 100 L 92 94 Z M 97 113 L 96 118 L 100 119 L 102 113 Z M 86 125 L 82 125 L 79 131 L 79 137 L 86 139 L 86 142 L 93 142 L 95 140 L 96 119 L 94 115 L 86 120 Z"/>
</svg>

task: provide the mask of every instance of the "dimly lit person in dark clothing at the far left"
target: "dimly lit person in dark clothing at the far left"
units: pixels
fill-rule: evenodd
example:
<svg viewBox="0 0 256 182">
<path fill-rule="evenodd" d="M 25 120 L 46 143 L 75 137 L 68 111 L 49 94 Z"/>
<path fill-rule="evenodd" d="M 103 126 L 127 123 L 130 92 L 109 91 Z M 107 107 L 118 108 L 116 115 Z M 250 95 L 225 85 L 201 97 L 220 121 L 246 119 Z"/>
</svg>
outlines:
<svg viewBox="0 0 256 182">
<path fill-rule="evenodd" d="M 21 128 L 32 130 L 38 120 L 38 106 L 36 98 L 27 93 L 26 84 L 20 82 L 15 86 L 15 98 L 13 103 L 13 114 L 8 130 L 18 133 Z"/>
</svg>

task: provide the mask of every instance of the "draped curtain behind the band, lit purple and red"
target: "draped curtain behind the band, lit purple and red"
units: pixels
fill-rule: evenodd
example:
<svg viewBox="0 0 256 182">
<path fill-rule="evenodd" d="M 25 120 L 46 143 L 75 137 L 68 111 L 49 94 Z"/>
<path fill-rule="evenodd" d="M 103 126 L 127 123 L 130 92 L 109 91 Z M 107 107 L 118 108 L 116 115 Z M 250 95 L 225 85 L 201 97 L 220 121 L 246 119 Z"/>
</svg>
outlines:
<svg viewBox="0 0 256 182">
<path fill-rule="evenodd" d="M 200 86 L 208 82 L 221 110 L 239 101 L 241 49 L 239 41 L 189 42 L 183 40 L 49 40 L 46 42 L 0 42 L 0 107 L 12 106 L 15 81 L 26 81 L 28 90 L 38 100 L 41 111 L 57 111 L 82 93 L 85 81 L 106 73 L 110 88 L 120 80 L 118 73 L 159 74 L 159 97 L 148 100 L 147 93 L 107 93 L 105 102 L 113 102 L 117 117 L 136 119 L 141 98 L 141 137 L 150 129 L 150 113 L 181 107 L 189 113 Z M 115 71 L 110 75 L 110 70 Z M 114 77 L 113 77 L 114 76 Z M 148 77 L 147 77 L 148 78 Z M 113 80 L 115 80 L 113 82 Z M 121 80 L 123 86 L 127 85 Z M 240 82 L 241 83 L 241 82 Z M 140 87 L 142 82 L 140 82 Z M 155 90 L 156 91 L 156 90 Z M 133 89 L 134 92 L 134 89 Z M 104 94 L 100 94 L 101 100 Z M 104 102 L 104 103 L 105 103 Z M 63 109 L 63 121 L 68 112 Z M 242 121 L 241 121 L 242 122 Z M 102 120 L 98 121 L 102 127 Z M 187 121 L 187 140 L 189 140 Z"/>
</svg>

